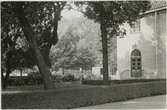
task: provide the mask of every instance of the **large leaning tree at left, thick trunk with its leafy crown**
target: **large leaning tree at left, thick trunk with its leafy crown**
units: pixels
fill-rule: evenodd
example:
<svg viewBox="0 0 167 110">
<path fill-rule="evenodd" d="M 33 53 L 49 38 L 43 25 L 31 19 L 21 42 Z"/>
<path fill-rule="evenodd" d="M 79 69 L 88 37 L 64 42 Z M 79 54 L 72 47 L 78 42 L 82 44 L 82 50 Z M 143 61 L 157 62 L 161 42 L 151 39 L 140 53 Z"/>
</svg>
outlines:
<svg viewBox="0 0 167 110">
<path fill-rule="evenodd" d="M 2 3 L 2 11 L 8 14 L 4 19 L 14 18 L 15 22 L 12 22 L 12 25 L 21 28 L 29 47 L 32 48 L 32 54 L 44 79 L 45 89 L 53 88 L 48 56 L 51 46 L 58 41 L 58 21 L 64 6 L 65 2 Z"/>
</svg>

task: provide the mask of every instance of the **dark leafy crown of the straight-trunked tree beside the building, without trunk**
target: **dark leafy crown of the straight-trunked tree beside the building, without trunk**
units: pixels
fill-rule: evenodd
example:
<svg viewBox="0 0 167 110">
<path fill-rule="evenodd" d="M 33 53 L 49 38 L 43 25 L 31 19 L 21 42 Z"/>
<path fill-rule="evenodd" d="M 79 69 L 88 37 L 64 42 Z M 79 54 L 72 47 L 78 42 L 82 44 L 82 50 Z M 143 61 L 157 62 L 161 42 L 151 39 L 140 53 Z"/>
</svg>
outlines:
<svg viewBox="0 0 167 110">
<path fill-rule="evenodd" d="M 89 19 L 98 23 L 103 20 L 106 28 L 109 28 L 107 32 L 112 36 L 119 34 L 120 25 L 126 22 L 133 24 L 151 7 L 149 1 L 76 2 L 76 5 Z"/>
</svg>

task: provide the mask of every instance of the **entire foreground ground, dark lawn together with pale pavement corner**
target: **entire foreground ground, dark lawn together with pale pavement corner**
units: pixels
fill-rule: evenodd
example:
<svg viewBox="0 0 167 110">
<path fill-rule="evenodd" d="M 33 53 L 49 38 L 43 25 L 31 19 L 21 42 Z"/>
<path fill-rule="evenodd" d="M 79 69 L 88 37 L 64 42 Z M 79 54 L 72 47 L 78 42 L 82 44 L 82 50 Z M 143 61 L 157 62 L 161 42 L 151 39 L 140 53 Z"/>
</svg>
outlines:
<svg viewBox="0 0 167 110">
<path fill-rule="evenodd" d="M 160 86 L 161 85 L 161 86 Z M 140 82 L 114 85 L 82 85 L 80 82 L 55 83 L 53 90 L 44 90 L 42 85 L 10 86 L 2 91 L 3 108 L 164 108 L 165 97 L 143 96 L 166 94 L 166 83 Z M 134 99 L 138 98 L 138 99 Z M 23 100 L 24 99 L 24 100 Z M 130 100 L 134 99 L 134 100 Z M 124 100 L 124 101 L 121 101 Z M 125 101 L 129 100 L 129 101 Z M 121 101 L 121 102 L 115 102 Z M 112 103 L 109 103 L 112 102 Z M 102 104 L 103 105 L 98 105 Z M 108 104 L 104 104 L 108 103 Z"/>
</svg>

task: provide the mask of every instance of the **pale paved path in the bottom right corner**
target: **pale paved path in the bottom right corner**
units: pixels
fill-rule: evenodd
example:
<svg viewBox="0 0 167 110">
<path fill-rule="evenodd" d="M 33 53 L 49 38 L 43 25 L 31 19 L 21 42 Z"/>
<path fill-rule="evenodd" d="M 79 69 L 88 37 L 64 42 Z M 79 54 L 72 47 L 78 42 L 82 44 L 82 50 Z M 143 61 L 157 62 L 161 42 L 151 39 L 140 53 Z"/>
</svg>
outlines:
<svg viewBox="0 0 167 110">
<path fill-rule="evenodd" d="M 166 95 L 159 95 L 137 98 L 128 101 L 82 107 L 81 109 L 163 109 L 166 107 Z"/>
</svg>

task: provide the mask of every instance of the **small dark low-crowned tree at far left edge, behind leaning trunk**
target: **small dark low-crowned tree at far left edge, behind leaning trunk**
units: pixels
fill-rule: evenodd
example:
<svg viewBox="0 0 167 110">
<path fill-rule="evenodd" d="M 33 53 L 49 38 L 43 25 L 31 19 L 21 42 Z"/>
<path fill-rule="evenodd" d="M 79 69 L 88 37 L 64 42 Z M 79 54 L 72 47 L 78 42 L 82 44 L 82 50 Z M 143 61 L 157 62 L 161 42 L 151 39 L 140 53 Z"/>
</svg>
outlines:
<svg viewBox="0 0 167 110">
<path fill-rule="evenodd" d="M 4 61 L 3 64 L 3 71 L 1 72 L 2 78 L 2 87 L 3 89 L 6 89 L 8 86 L 8 79 L 10 73 L 18 69 L 22 71 L 23 68 L 32 68 L 35 65 L 34 58 L 31 56 L 28 56 L 28 54 L 31 53 L 29 50 L 24 52 L 22 49 L 12 49 L 10 51 L 7 51 L 6 54 L 3 54 L 5 58 L 2 58 L 2 61 Z M 4 72 L 6 71 L 6 75 L 4 76 Z"/>
</svg>

